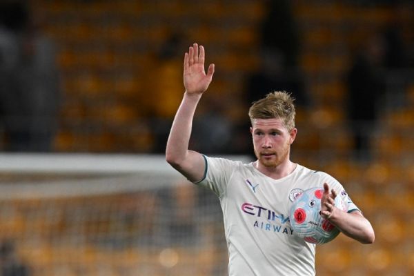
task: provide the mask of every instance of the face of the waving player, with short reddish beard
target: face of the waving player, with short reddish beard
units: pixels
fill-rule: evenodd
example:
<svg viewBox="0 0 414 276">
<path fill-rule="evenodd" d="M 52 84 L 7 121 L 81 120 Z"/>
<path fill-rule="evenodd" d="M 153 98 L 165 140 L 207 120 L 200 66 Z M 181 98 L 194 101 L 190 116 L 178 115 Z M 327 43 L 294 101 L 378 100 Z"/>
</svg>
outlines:
<svg viewBox="0 0 414 276">
<path fill-rule="evenodd" d="M 295 140 L 297 129 L 289 131 L 280 118 L 254 119 L 250 132 L 259 164 L 276 167 L 289 158 L 290 144 Z"/>
</svg>

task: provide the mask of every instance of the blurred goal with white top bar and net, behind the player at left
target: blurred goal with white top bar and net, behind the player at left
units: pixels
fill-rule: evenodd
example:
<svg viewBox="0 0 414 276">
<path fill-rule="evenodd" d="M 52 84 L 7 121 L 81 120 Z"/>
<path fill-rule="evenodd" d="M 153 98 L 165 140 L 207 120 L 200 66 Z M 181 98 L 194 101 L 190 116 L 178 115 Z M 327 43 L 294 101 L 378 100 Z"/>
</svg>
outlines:
<svg viewBox="0 0 414 276">
<path fill-rule="evenodd" d="M 0 188 L 0 274 L 227 273 L 217 197 L 162 156 L 3 154 Z"/>
</svg>

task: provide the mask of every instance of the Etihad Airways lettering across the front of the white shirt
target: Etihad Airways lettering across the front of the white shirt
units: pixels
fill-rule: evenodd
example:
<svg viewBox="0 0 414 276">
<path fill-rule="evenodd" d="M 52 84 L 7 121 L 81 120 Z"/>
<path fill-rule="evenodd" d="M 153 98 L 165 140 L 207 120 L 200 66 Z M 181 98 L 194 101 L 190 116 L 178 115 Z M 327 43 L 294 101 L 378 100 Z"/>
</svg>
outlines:
<svg viewBox="0 0 414 276">
<path fill-rule="evenodd" d="M 281 233 L 286 235 L 293 235 L 293 229 L 290 228 L 290 222 L 288 216 L 283 214 L 277 214 L 274 210 L 257 206 L 250 203 L 242 204 L 242 211 L 248 215 L 252 215 L 259 219 L 255 219 L 253 227 L 261 230 Z M 265 221 L 261 221 L 264 220 Z"/>
</svg>

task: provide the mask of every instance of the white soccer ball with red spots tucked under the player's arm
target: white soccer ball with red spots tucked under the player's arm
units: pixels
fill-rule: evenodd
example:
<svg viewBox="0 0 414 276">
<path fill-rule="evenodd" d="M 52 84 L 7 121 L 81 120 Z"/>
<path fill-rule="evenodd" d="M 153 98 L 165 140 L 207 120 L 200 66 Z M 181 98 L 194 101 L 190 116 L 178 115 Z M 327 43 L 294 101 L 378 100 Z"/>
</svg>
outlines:
<svg viewBox="0 0 414 276">
<path fill-rule="evenodd" d="M 326 244 L 335 239 L 339 230 L 320 215 L 321 199 L 324 188 L 315 187 L 305 190 L 297 196 L 290 207 L 290 225 L 293 233 L 305 242 Z M 335 207 L 346 211 L 341 197 L 335 197 Z"/>
</svg>

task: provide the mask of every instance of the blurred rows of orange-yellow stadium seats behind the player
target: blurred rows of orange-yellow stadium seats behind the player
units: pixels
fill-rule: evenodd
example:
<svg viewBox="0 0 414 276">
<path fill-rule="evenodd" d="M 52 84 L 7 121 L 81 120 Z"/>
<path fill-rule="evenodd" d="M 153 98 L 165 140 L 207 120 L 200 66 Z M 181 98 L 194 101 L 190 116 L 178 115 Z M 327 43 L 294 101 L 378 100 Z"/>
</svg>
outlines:
<svg viewBox="0 0 414 276">
<path fill-rule="evenodd" d="M 216 63 L 215 80 L 206 97 L 228 101 L 226 115 L 234 124 L 247 120 L 244 78 L 259 64 L 257 28 L 266 1 L 204 1 L 201 6 L 184 0 L 32 2 L 36 2 L 32 9 L 43 16 L 44 31 L 59 49 L 63 105 L 55 152 L 161 153 L 156 150 L 157 133 L 151 125 L 159 99 L 151 96 L 150 89 L 158 80 L 150 72 L 155 72 L 157 52 L 172 28 L 181 32 L 184 45 L 197 41 L 206 46 L 208 61 Z M 344 75 L 351 66 L 352 50 L 396 19 L 407 48 L 414 49 L 414 8 L 409 1 L 402 1 L 400 10 L 392 4 L 358 2 L 293 1 L 303 44 L 299 66 L 313 99 L 309 108 L 299 111 L 293 156 L 299 163 L 325 170 L 342 181 L 377 234 L 369 248 L 343 235 L 320 246 L 317 274 L 412 275 L 413 52 L 411 64 L 402 74 L 406 77 L 387 79 L 392 85 L 386 99 L 397 102 L 384 101 L 378 128 L 367 133 L 374 148 L 371 159 L 353 159 Z M 179 54 L 177 59 L 181 58 Z M 173 69 L 180 71 L 181 67 Z M 397 90 L 401 91 L 398 95 Z M 181 92 L 178 88 L 177 93 Z M 201 103 L 201 112 L 206 108 Z M 6 173 L 1 181 L 13 177 Z M 29 175 L 28 181 L 33 177 L 36 179 Z M 217 246 L 222 239 L 204 241 L 202 247 L 181 244 L 156 248 L 138 238 L 135 248 L 123 248 L 122 242 L 131 242 L 128 237 L 137 238 L 137 233 L 150 236 L 152 230 L 151 225 L 137 222 L 151 221 L 151 217 L 131 210 L 133 207 L 125 204 L 126 197 L 155 204 L 151 201 L 155 199 L 141 192 L 81 199 L 2 199 L 0 235 L 15 240 L 17 254 L 30 266 L 30 275 L 226 273 L 225 244 L 224 250 Z M 110 212 L 120 204 L 124 204 L 123 210 Z M 68 206 L 78 208 L 68 210 Z M 127 216 L 128 211 L 136 221 Z M 104 215 L 107 213 L 124 214 L 125 221 Z M 204 229 L 204 237 L 222 235 L 220 225 Z M 123 236 L 118 237 L 119 233 Z M 57 241 L 58 237 L 68 240 Z M 114 244 L 110 237 L 115 237 Z M 77 243 L 82 244 L 81 250 Z"/>
</svg>

